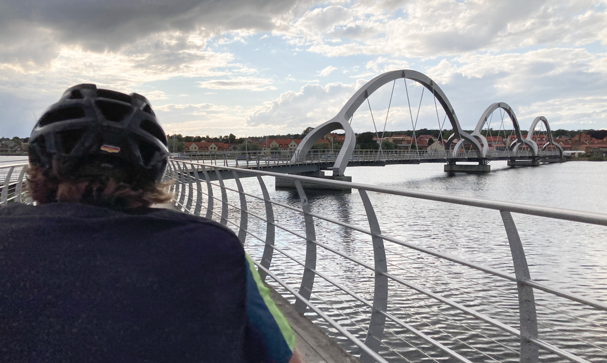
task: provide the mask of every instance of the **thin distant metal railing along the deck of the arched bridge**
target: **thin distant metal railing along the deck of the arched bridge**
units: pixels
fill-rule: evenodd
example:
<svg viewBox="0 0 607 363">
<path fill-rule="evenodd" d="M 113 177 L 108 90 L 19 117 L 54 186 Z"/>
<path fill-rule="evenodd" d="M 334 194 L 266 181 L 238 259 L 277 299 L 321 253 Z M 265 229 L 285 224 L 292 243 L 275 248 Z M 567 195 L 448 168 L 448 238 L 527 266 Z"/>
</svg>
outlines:
<svg viewBox="0 0 607 363">
<path fill-rule="evenodd" d="M 238 168 L 263 168 L 276 165 L 300 165 L 309 163 L 331 163 L 339 150 L 310 150 L 305 160 L 292 161 L 295 150 L 279 151 L 204 151 L 174 155 L 178 160 L 189 160 L 209 165 L 235 166 Z M 557 151 L 540 151 L 540 157 L 558 157 Z M 531 151 L 489 151 L 487 159 L 531 158 Z M 355 150 L 350 158 L 353 163 L 381 163 L 388 161 L 435 161 L 447 162 L 478 158 L 476 151 L 461 151 L 453 155 L 443 150 Z"/>
</svg>

